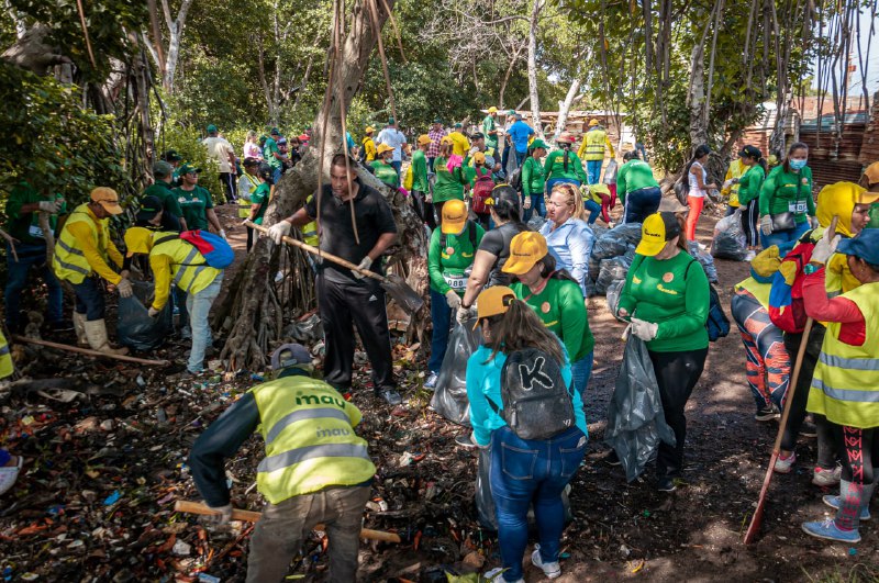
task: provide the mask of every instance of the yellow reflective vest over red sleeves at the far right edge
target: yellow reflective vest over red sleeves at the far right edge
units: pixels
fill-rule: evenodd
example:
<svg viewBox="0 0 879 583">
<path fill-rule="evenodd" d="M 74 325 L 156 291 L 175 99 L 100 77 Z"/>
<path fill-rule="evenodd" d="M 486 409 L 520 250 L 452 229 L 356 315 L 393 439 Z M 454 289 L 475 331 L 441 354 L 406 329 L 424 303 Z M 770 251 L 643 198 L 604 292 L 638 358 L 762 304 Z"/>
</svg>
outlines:
<svg viewBox="0 0 879 583">
<path fill-rule="evenodd" d="M 806 410 L 848 427 L 879 427 L 879 283 L 865 283 L 842 295 L 864 314 L 861 346 L 839 340 L 842 324 L 828 322 Z"/>
</svg>

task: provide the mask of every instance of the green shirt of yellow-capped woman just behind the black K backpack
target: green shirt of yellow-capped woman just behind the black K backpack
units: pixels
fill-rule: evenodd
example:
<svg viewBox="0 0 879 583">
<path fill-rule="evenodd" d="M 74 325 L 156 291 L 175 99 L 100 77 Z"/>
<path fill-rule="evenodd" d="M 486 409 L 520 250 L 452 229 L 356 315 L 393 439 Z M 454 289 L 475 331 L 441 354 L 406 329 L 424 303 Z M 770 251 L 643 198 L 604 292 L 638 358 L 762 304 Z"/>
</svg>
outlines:
<svg viewBox="0 0 879 583">
<path fill-rule="evenodd" d="M 533 295 L 527 285 L 520 281 L 511 288 L 516 298 L 534 310 L 543 325 L 558 336 L 571 362 L 592 351 L 596 339 L 589 329 L 586 301 L 577 283 L 567 279 L 550 279 L 541 293 Z"/>
</svg>

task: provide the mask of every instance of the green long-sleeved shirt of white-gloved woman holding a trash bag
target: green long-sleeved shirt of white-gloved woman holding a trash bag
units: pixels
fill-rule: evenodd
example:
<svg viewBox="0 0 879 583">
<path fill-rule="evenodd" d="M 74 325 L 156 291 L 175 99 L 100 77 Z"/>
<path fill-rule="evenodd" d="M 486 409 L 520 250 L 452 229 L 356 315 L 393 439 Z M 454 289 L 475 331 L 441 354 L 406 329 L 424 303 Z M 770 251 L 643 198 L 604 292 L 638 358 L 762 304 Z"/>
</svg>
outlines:
<svg viewBox="0 0 879 583">
<path fill-rule="evenodd" d="M 659 325 L 647 343 L 654 352 L 679 352 L 708 347 L 708 278 L 690 254 L 664 261 L 635 256 L 620 296 L 620 309 Z"/>
</svg>

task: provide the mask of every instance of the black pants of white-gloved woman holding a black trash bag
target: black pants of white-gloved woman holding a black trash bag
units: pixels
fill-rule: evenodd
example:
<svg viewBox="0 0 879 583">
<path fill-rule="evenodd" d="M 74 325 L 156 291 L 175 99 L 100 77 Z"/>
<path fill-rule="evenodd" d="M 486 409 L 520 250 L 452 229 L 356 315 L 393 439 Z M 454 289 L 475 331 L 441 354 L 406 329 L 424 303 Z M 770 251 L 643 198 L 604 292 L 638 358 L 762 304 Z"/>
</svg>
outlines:
<svg viewBox="0 0 879 583">
<path fill-rule="evenodd" d="M 666 423 L 675 431 L 675 447 L 659 444 L 656 477 L 678 477 L 683 469 L 683 442 L 687 440 L 687 417 L 683 407 L 705 367 L 708 348 L 682 352 L 650 351 L 656 384 L 663 401 Z"/>
</svg>

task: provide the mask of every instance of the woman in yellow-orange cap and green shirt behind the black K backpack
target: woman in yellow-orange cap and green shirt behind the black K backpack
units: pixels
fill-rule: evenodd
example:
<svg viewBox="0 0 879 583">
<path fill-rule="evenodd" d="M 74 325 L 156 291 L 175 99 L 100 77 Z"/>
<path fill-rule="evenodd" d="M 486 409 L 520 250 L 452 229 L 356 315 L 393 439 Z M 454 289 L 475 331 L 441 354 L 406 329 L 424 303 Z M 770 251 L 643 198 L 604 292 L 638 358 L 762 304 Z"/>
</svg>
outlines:
<svg viewBox="0 0 879 583">
<path fill-rule="evenodd" d="M 511 284 L 515 296 L 528 304 L 565 345 L 571 360 L 574 388 L 582 396 L 592 373 L 596 340 L 589 329 L 581 283 L 550 255 L 546 238 L 532 231 L 513 237 L 503 272 L 515 277 Z"/>
</svg>

